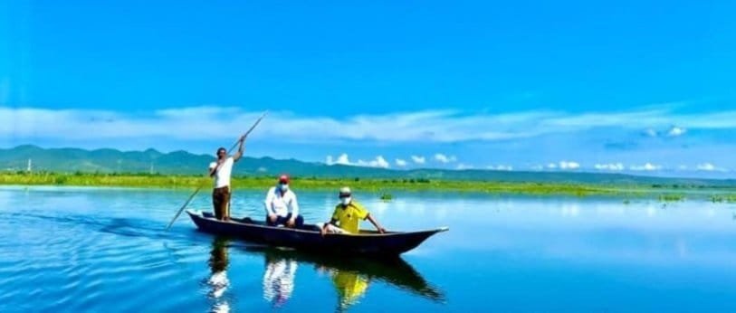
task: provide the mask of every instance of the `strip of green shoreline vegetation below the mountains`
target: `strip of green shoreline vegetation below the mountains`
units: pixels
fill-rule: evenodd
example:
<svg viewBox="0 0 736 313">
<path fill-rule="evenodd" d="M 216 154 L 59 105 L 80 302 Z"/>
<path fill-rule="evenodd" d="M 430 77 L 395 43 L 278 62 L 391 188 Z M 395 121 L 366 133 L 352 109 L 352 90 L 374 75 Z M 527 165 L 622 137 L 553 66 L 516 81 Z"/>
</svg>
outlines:
<svg viewBox="0 0 736 313">
<path fill-rule="evenodd" d="M 234 176 L 234 189 L 263 189 L 274 184 L 271 176 Z M 9 172 L 0 174 L 0 185 L 69 185 L 69 186 L 115 186 L 149 188 L 196 188 L 209 185 L 211 179 L 196 175 L 158 174 L 91 174 L 53 172 Z M 680 202 L 685 199 L 702 199 L 712 203 L 736 203 L 736 186 L 712 187 L 707 185 L 642 185 L 642 184 L 581 184 L 565 182 L 503 182 L 503 181 L 457 181 L 435 179 L 361 179 L 292 177 L 292 185 L 300 190 L 336 190 L 349 185 L 355 190 L 379 194 L 382 200 L 390 201 L 391 191 L 435 191 L 485 194 L 530 194 L 530 195 L 603 195 L 623 198 L 624 204 L 631 199 L 654 198 L 661 202 Z"/>
</svg>

